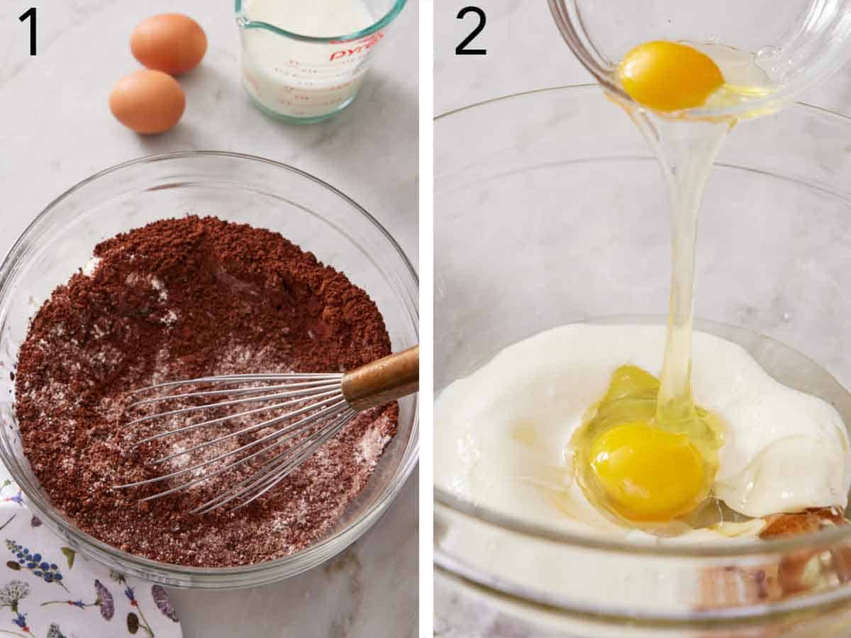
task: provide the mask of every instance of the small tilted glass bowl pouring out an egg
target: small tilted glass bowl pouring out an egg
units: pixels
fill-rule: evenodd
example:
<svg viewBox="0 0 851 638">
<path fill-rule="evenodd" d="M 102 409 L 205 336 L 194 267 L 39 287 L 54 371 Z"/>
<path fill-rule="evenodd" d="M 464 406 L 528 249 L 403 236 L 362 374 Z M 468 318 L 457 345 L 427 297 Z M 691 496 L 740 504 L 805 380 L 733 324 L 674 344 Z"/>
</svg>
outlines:
<svg viewBox="0 0 851 638">
<path fill-rule="evenodd" d="M 717 44 L 750 54 L 766 90 L 738 104 L 688 110 L 736 116 L 776 111 L 851 57 L 849 0 L 548 0 L 568 46 L 608 92 L 631 102 L 614 77 L 633 47 L 653 40 Z"/>
</svg>

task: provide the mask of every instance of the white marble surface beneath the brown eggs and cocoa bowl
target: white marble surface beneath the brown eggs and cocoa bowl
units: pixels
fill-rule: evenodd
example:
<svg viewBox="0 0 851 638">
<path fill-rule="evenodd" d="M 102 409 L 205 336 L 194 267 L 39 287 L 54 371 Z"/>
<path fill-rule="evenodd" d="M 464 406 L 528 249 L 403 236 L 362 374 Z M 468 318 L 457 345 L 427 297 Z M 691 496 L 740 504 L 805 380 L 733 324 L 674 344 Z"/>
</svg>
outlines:
<svg viewBox="0 0 851 638">
<path fill-rule="evenodd" d="M 0 11 L 0 251 L 53 197 L 101 168 L 184 149 L 270 157 L 328 181 L 367 208 L 417 263 L 417 12 L 411 0 L 374 58 L 354 104 L 331 122 L 284 125 L 249 105 L 238 73 L 232 2 L 69 0 L 38 4 L 38 54 L 28 56 L 31 3 Z M 208 34 L 203 66 L 181 78 L 186 115 L 168 134 L 119 125 L 107 96 L 139 68 L 129 34 L 148 15 L 180 11 Z M 323 567 L 235 593 L 174 594 L 186 638 L 413 636 L 417 601 L 416 476 L 381 521 Z"/>
</svg>

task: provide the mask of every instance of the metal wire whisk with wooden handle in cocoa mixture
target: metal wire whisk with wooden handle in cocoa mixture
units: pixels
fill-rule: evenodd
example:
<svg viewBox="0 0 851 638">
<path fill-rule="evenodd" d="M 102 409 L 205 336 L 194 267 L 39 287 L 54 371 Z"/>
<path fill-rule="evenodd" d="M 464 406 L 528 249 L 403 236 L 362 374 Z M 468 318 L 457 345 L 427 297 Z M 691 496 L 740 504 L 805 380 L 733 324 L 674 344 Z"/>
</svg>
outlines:
<svg viewBox="0 0 851 638">
<path fill-rule="evenodd" d="M 233 387 L 168 394 L 168 392 L 175 390 L 179 391 L 180 387 L 186 385 L 202 388 L 225 385 Z M 246 385 L 250 385 L 250 387 L 245 387 Z M 268 455 L 275 448 L 288 444 L 271 459 L 265 460 L 259 467 L 251 468 L 251 466 L 248 466 L 250 474 L 247 478 L 243 478 L 224 492 L 199 505 L 195 510 L 192 510 L 192 513 L 205 514 L 235 501 L 236 505 L 233 509 L 239 509 L 251 503 L 254 499 L 260 498 L 280 481 L 283 481 L 288 474 L 305 463 L 313 453 L 346 427 L 346 424 L 357 413 L 413 394 L 419 389 L 419 385 L 420 346 L 416 345 L 398 354 L 386 356 L 378 361 L 357 367 L 347 373 L 233 374 L 169 381 L 168 383 L 151 385 L 148 388 L 136 390 L 134 394 L 151 391 L 165 392 L 166 394 L 142 399 L 130 407 L 173 401 L 201 402 L 201 404 L 141 417 L 130 421 L 129 426 L 146 421 L 180 418 L 180 415 L 186 415 L 187 418 L 190 418 L 201 414 L 203 417 L 204 413 L 210 411 L 238 410 L 240 407 L 253 403 L 266 404 L 242 412 L 226 413 L 223 416 L 203 420 L 201 423 L 181 425 L 172 430 L 159 432 L 137 441 L 137 446 L 168 436 L 185 434 L 190 430 L 226 424 L 226 422 L 234 419 L 259 418 L 261 413 L 275 413 L 271 419 L 248 424 L 238 430 L 211 438 L 209 441 L 180 449 L 157 459 L 153 464 L 163 464 L 176 457 L 197 452 L 238 436 L 251 435 L 265 429 L 273 430 L 255 438 L 248 444 L 221 453 L 213 459 L 206 459 L 201 463 L 191 465 L 191 467 L 181 468 L 146 481 L 116 486 L 116 488 L 139 487 L 185 475 L 196 476 L 176 487 L 140 499 L 141 501 L 149 501 L 153 498 L 160 498 L 167 494 L 185 490 L 214 476 L 235 470 L 237 467 L 247 465 L 250 461 L 258 459 L 263 454 Z M 231 398 L 234 396 L 240 398 Z M 242 458 L 238 458 L 240 456 Z M 205 470 L 208 466 L 231 457 L 238 459 L 226 464 L 225 467 L 211 471 Z M 203 476 L 197 476 L 199 473 Z"/>
</svg>

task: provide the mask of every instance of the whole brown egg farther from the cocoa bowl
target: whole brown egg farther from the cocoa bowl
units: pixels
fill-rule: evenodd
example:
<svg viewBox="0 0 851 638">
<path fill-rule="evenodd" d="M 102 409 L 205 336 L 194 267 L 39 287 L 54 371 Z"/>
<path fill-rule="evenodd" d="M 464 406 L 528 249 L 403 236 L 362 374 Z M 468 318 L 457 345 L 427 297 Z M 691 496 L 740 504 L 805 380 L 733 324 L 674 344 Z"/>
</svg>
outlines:
<svg viewBox="0 0 851 638">
<path fill-rule="evenodd" d="M 191 71 L 207 52 L 207 36 L 195 20 L 183 14 L 159 14 L 133 31 L 130 50 L 149 69 L 180 75 Z"/>
</svg>

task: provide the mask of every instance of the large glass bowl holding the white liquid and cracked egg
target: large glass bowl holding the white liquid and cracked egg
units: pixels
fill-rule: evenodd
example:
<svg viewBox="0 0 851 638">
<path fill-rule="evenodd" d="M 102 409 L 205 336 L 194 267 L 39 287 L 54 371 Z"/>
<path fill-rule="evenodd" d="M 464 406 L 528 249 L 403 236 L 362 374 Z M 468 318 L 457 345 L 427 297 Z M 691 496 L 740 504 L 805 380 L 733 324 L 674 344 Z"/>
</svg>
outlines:
<svg viewBox="0 0 851 638">
<path fill-rule="evenodd" d="M 846 424 L 849 148 L 851 120 L 808 105 L 734 128 L 705 193 L 695 306 L 698 329 L 832 402 Z M 642 135 L 600 88 L 511 95 L 439 117 L 435 167 L 438 393 L 546 328 L 664 325 L 665 185 Z M 848 635 L 851 527 L 637 547 L 461 500 L 443 489 L 436 462 L 438 635 Z M 803 563 L 799 590 L 778 593 L 777 574 Z M 545 572 L 561 577 L 542 584 Z"/>
</svg>

